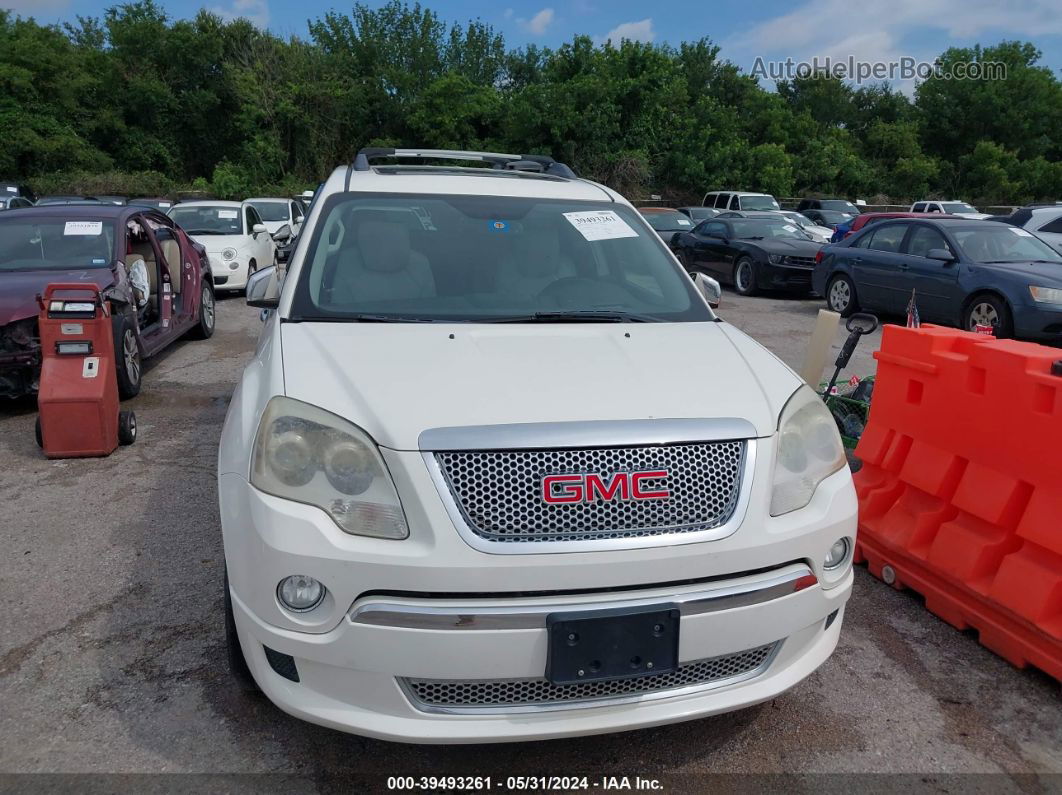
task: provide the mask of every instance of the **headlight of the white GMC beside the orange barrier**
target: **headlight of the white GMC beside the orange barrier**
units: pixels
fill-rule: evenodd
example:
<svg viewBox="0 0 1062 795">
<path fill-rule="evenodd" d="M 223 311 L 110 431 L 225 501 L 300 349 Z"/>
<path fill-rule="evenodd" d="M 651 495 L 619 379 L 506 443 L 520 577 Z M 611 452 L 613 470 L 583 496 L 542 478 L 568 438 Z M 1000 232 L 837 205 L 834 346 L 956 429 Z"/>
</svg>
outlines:
<svg viewBox="0 0 1062 795">
<path fill-rule="evenodd" d="M 807 505 L 819 484 L 844 465 L 844 446 L 833 415 L 809 386 L 801 386 L 778 419 L 771 516 Z"/>
</svg>

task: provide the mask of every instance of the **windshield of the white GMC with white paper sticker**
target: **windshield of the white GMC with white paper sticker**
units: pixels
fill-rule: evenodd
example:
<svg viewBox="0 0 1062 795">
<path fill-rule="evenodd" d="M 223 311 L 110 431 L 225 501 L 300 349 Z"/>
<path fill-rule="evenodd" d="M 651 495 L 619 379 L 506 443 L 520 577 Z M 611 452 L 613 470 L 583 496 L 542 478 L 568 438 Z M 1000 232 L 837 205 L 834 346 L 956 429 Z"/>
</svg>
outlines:
<svg viewBox="0 0 1062 795">
<path fill-rule="evenodd" d="M 660 237 L 611 202 L 331 196 L 290 319 L 709 321 Z"/>
</svg>

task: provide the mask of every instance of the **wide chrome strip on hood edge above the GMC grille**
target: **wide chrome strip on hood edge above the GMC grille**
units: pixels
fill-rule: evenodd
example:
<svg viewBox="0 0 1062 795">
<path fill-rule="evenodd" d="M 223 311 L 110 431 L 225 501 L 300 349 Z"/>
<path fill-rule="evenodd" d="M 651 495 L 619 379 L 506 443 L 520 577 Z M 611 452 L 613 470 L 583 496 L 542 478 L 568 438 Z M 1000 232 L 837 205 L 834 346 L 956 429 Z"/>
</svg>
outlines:
<svg viewBox="0 0 1062 795">
<path fill-rule="evenodd" d="M 429 428 L 417 437 L 417 447 L 430 452 L 648 447 L 682 442 L 750 439 L 756 435 L 755 426 L 740 417 L 594 419 L 579 422 Z"/>
</svg>

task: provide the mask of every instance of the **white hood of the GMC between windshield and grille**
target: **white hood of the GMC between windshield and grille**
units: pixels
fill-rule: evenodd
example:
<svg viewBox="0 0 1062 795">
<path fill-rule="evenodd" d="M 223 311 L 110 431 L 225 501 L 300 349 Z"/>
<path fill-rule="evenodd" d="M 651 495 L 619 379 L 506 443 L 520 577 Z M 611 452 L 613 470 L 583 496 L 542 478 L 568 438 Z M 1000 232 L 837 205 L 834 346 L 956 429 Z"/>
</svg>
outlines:
<svg viewBox="0 0 1062 795">
<path fill-rule="evenodd" d="M 742 417 L 767 436 L 801 383 L 717 323 L 285 323 L 281 347 L 289 397 L 398 450 L 429 428 L 595 419 Z"/>
</svg>

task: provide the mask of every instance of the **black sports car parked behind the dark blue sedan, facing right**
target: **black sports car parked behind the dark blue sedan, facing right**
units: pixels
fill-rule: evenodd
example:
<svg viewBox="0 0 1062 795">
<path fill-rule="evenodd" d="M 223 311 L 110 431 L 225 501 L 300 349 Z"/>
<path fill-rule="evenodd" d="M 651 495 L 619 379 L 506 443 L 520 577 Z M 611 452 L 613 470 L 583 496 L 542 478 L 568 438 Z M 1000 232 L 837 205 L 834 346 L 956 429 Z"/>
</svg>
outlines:
<svg viewBox="0 0 1062 795">
<path fill-rule="evenodd" d="M 674 236 L 672 248 L 687 271 L 734 284 L 741 295 L 760 290 L 811 289 L 822 248 L 784 218 L 717 218 Z"/>
</svg>

